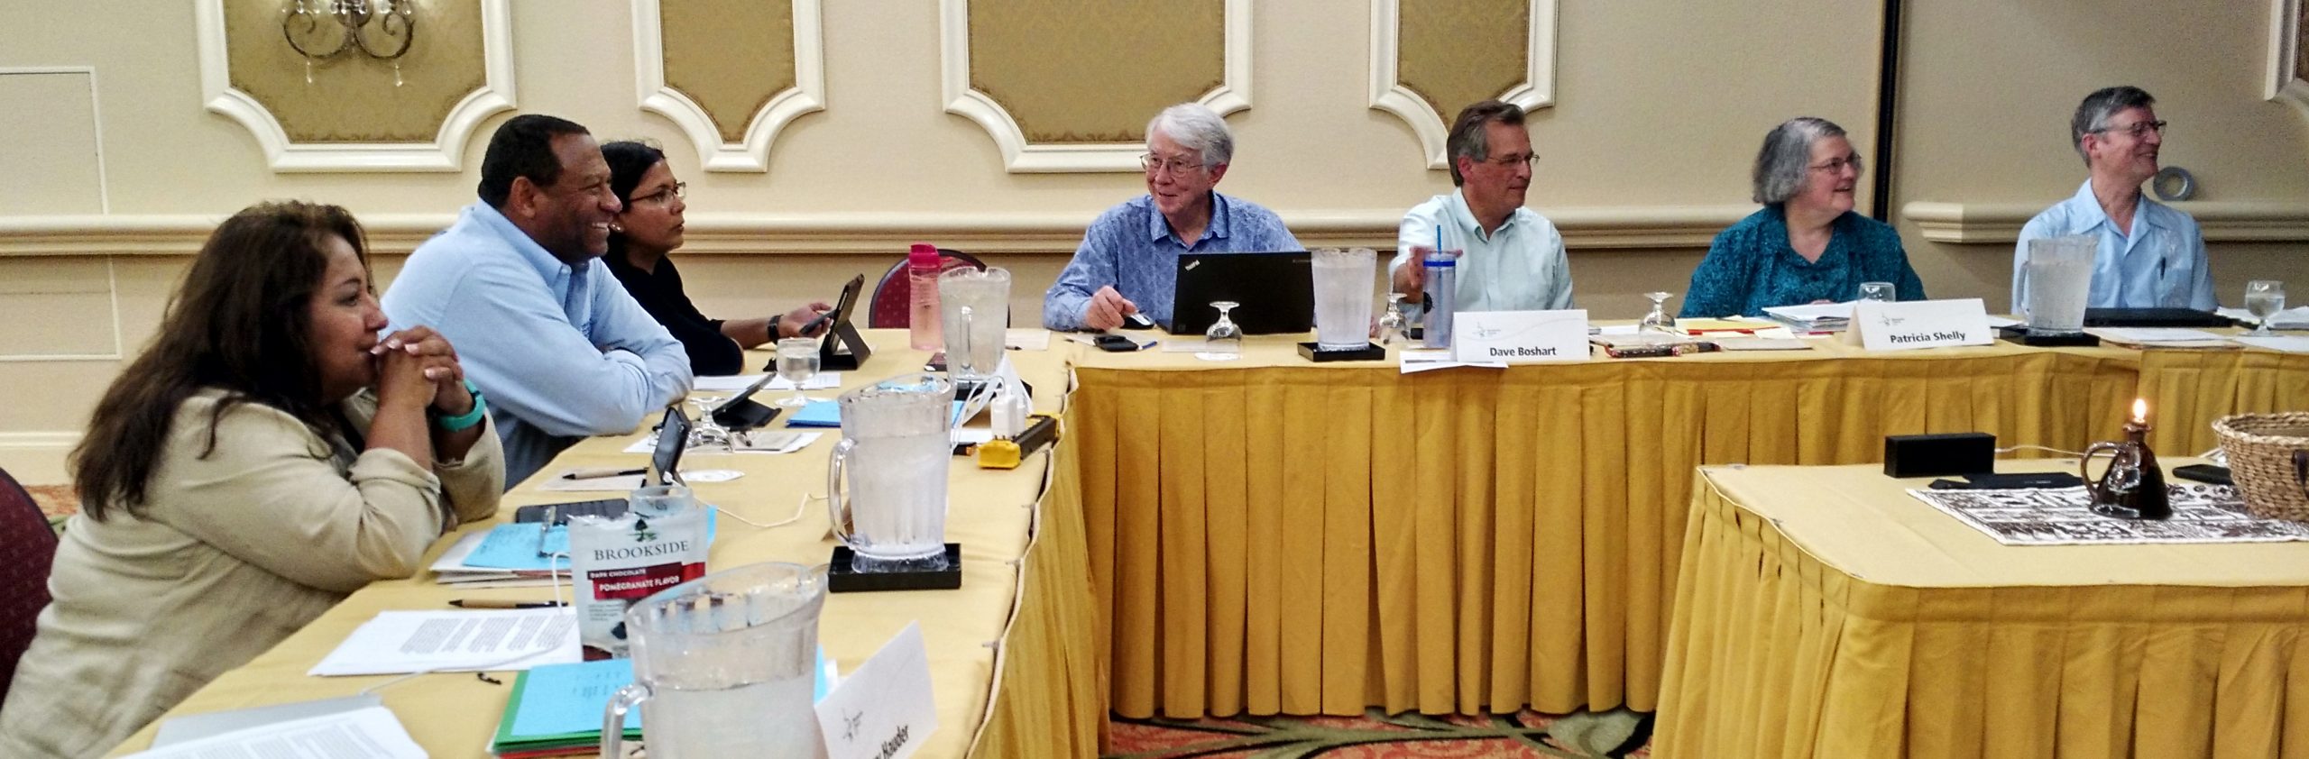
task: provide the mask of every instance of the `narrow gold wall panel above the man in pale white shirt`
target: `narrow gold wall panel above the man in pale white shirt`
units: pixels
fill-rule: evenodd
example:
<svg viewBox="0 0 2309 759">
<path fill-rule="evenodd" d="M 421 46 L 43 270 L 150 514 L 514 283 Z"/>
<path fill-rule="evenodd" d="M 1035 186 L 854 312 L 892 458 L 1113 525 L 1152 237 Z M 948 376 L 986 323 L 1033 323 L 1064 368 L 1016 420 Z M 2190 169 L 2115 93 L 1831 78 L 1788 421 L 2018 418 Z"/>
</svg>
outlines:
<svg viewBox="0 0 2309 759">
<path fill-rule="evenodd" d="M 1404 2 L 1395 51 L 1395 81 L 1427 99 L 1448 129 L 1459 108 L 1529 78 L 1531 2 Z"/>
</svg>

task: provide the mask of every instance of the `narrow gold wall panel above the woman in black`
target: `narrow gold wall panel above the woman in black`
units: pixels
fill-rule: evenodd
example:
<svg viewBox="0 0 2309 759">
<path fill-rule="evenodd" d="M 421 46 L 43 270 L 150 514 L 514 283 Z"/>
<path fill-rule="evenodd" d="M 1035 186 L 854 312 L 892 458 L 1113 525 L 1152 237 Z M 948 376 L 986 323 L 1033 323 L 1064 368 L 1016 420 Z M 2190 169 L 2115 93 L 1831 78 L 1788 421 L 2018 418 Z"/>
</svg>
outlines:
<svg viewBox="0 0 2309 759">
<path fill-rule="evenodd" d="M 767 0 L 667 0 L 665 85 L 713 118 L 723 143 L 743 143 L 753 115 L 794 88 L 794 5 Z"/>
</svg>

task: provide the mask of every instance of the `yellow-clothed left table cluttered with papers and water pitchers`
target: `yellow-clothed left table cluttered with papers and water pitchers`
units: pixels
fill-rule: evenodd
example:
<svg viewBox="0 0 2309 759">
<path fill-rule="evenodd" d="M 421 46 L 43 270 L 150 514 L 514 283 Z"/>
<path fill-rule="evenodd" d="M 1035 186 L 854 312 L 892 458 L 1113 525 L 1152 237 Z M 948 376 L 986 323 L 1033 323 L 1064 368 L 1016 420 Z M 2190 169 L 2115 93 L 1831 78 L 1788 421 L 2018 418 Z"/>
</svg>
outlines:
<svg viewBox="0 0 2309 759">
<path fill-rule="evenodd" d="M 875 346 L 864 371 L 843 376 L 845 388 L 919 371 L 924 351 L 905 346 L 903 330 L 868 330 Z M 1064 408 L 1069 351 L 1016 351 L 1021 376 L 1037 388 L 1034 411 Z M 769 362 L 767 351 L 748 353 L 748 365 Z M 834 397 L 831 390 L 813 392 Z M 776 397 L 767 392 L 764 397 Z M 695 411 L 695 406 L 690 408 Z M 695 413 L 693 413 L 695 415 Z M 776 422 L 774 422 L 776 424 Z M 522 487 L 506 494 L 496 521 L 471 524 L 487 531 L 529 503 L 614 498 L 617 494 L 543 491 L 540 482 L 573 466 L 640 466 L 647 454 L 623 452 L 644 431 L 589 438 L 559 454 Z M 730 517 L 774 524 L 750 528 L 718 519 L 707 570 L 760 561 L 824 563 L 834 540 L 820 494 L 827 452 L 840 438 L 829 431 L 794 454 L 727 454 L 693 450 L 683 471 L 732 468 L 730 482 L 695 482 L 700 501 Z M 921 623 L 937 704 L 937 731 L 917 757 L 1088 757 L 1097 752 L 1106 724 L 1092 646 L 1092 609 L 1083 568 L 1083 526 L 1074 494 L 1074 466 L 1062 445 L 1037 452 L 1016 471 L 977 468 L 954 459 L 949 480 L 947 540 L 963 544 L 963 588 L 834 593 L 820 618 L 820 644 L 843 674 L 873 655 L 907 623 Z M 432 563 L 453 540 L 427 551 Z M 566 588 L 563 588 L 566 593 Z M 328 655 L 360 623 L 383 609 L 446 609 L 453 598 L 545 600 L 547 588 L 455 588 L 427 572 L 386 579 L 356 591 L 342 604 L 296 632 L 272 651 L 208 683 L 169 715 L 192 715 L 266 704 L 346 697 L 381 685 L 388 676 L 316 678 L 305 671 Z M 432 757 L 487 757 L 490 738 L 506 708 L 508 685 L 473 674 L 427 674 L 386 685 L 383 704 Z M 157 724 L 157 722 L 155 722 Z M 155 724 L 115 752 L 143 750 Z"/>
</svg>

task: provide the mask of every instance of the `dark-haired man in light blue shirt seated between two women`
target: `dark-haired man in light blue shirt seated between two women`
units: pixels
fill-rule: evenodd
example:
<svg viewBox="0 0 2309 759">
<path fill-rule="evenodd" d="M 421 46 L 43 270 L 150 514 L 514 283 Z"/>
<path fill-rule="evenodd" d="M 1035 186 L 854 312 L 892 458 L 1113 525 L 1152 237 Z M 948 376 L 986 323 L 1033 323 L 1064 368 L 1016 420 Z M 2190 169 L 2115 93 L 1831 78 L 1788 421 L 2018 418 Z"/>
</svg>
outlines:
<svg viewBox="0 0 2309 759">
<path fill-rule="evenodd" d="M 480 203 L 418 245 L 386 291 L 393 330 L 429 325 L 457 346 L 506 443 L 506 487 L 690 390 L 681 341 L 600 263 L 617 210 L 584 127 L 513 118 L 490 138 Z"/>
</svg>

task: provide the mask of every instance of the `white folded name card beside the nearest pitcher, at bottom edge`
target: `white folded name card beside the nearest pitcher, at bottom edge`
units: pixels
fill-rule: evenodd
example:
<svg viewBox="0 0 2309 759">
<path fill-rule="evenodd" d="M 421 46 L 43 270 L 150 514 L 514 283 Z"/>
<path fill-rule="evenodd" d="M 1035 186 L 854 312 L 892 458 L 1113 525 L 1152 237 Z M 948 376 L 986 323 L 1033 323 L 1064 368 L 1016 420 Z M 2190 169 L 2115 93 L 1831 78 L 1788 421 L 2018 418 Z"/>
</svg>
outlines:
<svg viewBox="0 0 2309 759">
<path fill-rule="evenodd" d="M 931 699 L 931 653 L 921 623 L 907 623 L 866 664 L 817 701 L 817 734 L 827 759 L 901 759 L 937 729 Z"/>
</svg>

